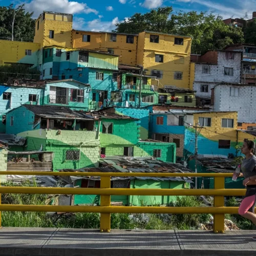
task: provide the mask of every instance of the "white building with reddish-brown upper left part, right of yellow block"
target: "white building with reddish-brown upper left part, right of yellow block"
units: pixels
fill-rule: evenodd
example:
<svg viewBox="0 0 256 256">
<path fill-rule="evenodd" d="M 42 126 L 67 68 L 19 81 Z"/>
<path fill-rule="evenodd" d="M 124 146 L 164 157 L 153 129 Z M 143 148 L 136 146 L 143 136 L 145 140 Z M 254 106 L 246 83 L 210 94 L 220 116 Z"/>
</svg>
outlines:
<svg viewBox="0 0 256 256">
<path fill-rule="evenodd" d="M 240 83 L 241 58 L 241 52 L 223 50 L 191 55 L 191 62 L 195 62 L 193 89 L 196 96 L 210 98 L 211 89 L 220 82 Z"/>
</svg>

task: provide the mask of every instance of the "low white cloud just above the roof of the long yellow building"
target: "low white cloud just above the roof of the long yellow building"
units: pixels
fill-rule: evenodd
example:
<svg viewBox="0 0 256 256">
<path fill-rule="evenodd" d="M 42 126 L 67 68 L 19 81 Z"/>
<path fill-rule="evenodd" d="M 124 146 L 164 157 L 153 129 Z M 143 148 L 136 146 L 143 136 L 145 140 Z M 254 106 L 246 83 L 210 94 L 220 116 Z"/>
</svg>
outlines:
<svg viewBox="0 0 256 256">
<path fill-rule="evenodd" d="M 116 28 L 115 25 L 117 23 L 119 23 L 118 17 L 106 22 L 103 22 L 100 18 L 93 19 L 89 22 L 87 22 L 84 18 L 74 18 L 73 28 L 79 30 L 109 32 Z"/>
</svg>

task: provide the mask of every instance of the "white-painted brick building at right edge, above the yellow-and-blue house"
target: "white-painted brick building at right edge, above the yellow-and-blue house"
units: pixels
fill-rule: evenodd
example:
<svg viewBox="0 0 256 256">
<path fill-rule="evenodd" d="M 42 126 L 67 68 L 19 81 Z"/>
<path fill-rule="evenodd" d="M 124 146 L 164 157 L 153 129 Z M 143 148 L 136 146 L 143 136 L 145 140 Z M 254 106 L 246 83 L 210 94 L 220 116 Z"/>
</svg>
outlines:
<svg viewBox="0 0 256 256">
<path fill-rule="evenodd" d="M 256 123 L 256 86 L 219 84 L 214 93 L 214 111 L 237 111 L 239 123 Z"/>
</svg>

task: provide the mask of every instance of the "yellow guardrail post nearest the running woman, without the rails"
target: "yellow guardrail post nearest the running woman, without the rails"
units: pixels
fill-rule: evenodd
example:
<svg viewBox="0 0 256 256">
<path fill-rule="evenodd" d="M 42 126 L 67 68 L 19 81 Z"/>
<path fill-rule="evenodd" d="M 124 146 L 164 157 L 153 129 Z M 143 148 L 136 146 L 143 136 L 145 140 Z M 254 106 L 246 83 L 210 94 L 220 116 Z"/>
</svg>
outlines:
<svg viewBox="0 0 256 256">
<path fill-rule="evenodd" d="M 224 189 L 225 188 L 225 177 L 215 177 L 214 178 L 214 188 L 215 189 Z M 224 207 L 224 196 L 215 196 L 214 197 L 214 207 Z M 224 227 L 224 214 L 215 214 L 214 215 L 214 232 L 215 233 L 225 233 Z"/>
</svg>

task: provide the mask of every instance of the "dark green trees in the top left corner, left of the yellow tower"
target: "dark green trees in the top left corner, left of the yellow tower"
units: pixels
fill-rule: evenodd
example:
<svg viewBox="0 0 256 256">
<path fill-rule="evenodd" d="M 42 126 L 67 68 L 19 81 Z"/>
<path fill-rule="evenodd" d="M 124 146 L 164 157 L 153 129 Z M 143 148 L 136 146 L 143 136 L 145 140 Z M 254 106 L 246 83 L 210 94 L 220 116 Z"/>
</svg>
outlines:
<svg viewBox="0 0 256 256">
<path fill-rule="evenodd" d="M 33 41 L 35 31 L 35 19 L 33 12 L 26 12 L 24 5 L 14 8 L 13 5 L 0 6 L 0 37 L 7 39 L 12 37 L 12 21 L 14 19 L 15 40 Z M 1 38 L 0 38 L 1 39 Z"/>
</svg>

